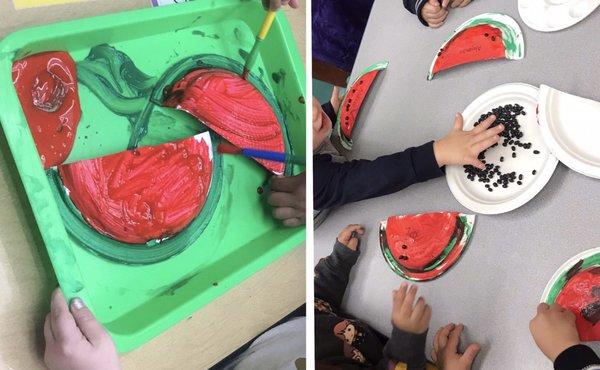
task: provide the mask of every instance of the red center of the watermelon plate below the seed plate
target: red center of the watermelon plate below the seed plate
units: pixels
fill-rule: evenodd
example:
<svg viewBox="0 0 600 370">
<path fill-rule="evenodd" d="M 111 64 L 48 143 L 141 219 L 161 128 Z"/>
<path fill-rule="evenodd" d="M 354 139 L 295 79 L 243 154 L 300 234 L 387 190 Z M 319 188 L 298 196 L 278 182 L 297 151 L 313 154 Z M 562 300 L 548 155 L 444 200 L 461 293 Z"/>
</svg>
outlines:
<svg viewBox="0 0 600 370">
<path fill-rule="evenodd" d="M 457 212 L 388 218 L 386 237 L 394 259 L 408 269 L 423 270 L 450 243 L 456 230 L 457 218 Z M 460 251 L 458 253 L 460 255 Z"/>
</svg>

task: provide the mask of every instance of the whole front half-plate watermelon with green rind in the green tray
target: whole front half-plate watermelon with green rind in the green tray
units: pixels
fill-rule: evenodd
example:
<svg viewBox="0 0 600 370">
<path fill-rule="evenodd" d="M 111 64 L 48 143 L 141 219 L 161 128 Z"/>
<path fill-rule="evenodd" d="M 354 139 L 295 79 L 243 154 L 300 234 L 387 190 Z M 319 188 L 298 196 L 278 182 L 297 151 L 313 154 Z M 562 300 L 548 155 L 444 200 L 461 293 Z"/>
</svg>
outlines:
<svg viewBox="0 0 600 370">
<path fill-rule="evenodd" d="M 221 194 L 214 140 L 207 131 L 49 169 L 67 231 L 91 252 L 123 264 L 181 253 L 202 234 Z"/>
</svg>

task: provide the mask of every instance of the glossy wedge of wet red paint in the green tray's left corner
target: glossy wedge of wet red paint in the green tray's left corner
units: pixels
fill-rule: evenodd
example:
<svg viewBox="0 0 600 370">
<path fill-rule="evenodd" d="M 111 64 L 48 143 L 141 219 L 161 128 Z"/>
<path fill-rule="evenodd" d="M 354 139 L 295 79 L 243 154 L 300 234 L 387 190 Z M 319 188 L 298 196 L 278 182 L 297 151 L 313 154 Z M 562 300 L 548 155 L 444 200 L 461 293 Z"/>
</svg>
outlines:
<svg viewBox="0 0 600 370">
<path fill-rule="evenodd" d="M 63 163 L 81 118 L 75 62 L 62 51 L 35 54 L 13 63 L 12 78 L 44 168 Z"/>
</svg>

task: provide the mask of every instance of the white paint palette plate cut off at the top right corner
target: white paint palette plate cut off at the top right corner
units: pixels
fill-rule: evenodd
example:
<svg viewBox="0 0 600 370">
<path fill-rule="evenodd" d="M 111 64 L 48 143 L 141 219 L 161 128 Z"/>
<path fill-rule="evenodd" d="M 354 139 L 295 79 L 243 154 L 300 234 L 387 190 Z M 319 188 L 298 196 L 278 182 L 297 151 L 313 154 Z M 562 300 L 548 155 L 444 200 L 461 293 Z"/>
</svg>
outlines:
<svg viewBox="0 0 600 370">
<path fill-rule="evenodd" d="M 519 14 L 530 28 L 554 32 L 581 22 L 599 5 L 600 0 L 519 0 Z"/>
</svg>

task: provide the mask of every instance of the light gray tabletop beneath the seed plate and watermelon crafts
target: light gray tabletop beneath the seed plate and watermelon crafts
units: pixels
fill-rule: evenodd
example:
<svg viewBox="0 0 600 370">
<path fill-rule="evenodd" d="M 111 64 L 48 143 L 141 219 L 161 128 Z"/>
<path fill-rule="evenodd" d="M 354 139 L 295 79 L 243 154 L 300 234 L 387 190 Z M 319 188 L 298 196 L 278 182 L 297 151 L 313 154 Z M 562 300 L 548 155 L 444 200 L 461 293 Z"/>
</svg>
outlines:
<svg viewBox="0 0 600 370">
<path fill-rule="evenodd" d="M 470 64 L 427 82 L 427 70 L 443 41 L 460 23 L 484 12 L 505 13 L 519 23 L 525 58 Z M 376 158 L 440 138 L 451 128 L 455 112 L 503 83 L 544 83 L 600 100 L 599 27 L 596 11 L 570 29 L 541 33 L 522 22 L 516 0 L 479 0 L 452 10 L 446 24 L 433 30 L 421 26 L 401 1 L 376 0 L 352 75 L 381 60 L 390 66 L 364 104 L 351 157 Z M 483 346 L 476 369 L 550 369 L 529 334 L 529 320 L 556 269 L 575 254 L 599 246 L 598 185 L 559 163 L 529 203 L 502 215 L 478 215 L 471 244 L 458 264 L 438 280 L 418 284 L 433 308 L 427 353 L 437 328 L 462 322 L 467 327 L 463 343 Z M 402 279 L 381 255 L 378 223 L 393 214 L 442 210 L 468 212 L 454 199 L 445 178 L 330 214 L 315 232 L 315 263 L 330 253 L 345 225 L 366 227 L 346 291 L 348 312 L 390 333 L 391 291 Z"/>
</svg>

